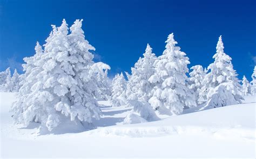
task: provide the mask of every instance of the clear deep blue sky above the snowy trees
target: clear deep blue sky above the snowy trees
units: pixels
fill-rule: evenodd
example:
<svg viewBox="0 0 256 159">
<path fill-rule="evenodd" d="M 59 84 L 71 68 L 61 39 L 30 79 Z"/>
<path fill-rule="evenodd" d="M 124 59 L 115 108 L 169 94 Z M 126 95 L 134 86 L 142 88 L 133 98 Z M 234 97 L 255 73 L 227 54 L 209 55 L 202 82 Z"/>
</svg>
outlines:
<svg viewBox="0 0 256 159">
<path fill-rule="evenodd" d="M 129 71 L 149 43 L 163 53 L 174 33 L 190 66 L 207 67 L 219 35 L 239 78 L 251 80 L 256 63 L 255 0 L 252 1 L 7 1 L 0 0 L 0 71 L 22 70 L 23 57 L 44 44 L 51 24 L 65 18 L 69 26 L 84 19 L 85 37 L 96 48 L 96 59 L 111 66 L 110 75 Z"/>
</svg>

